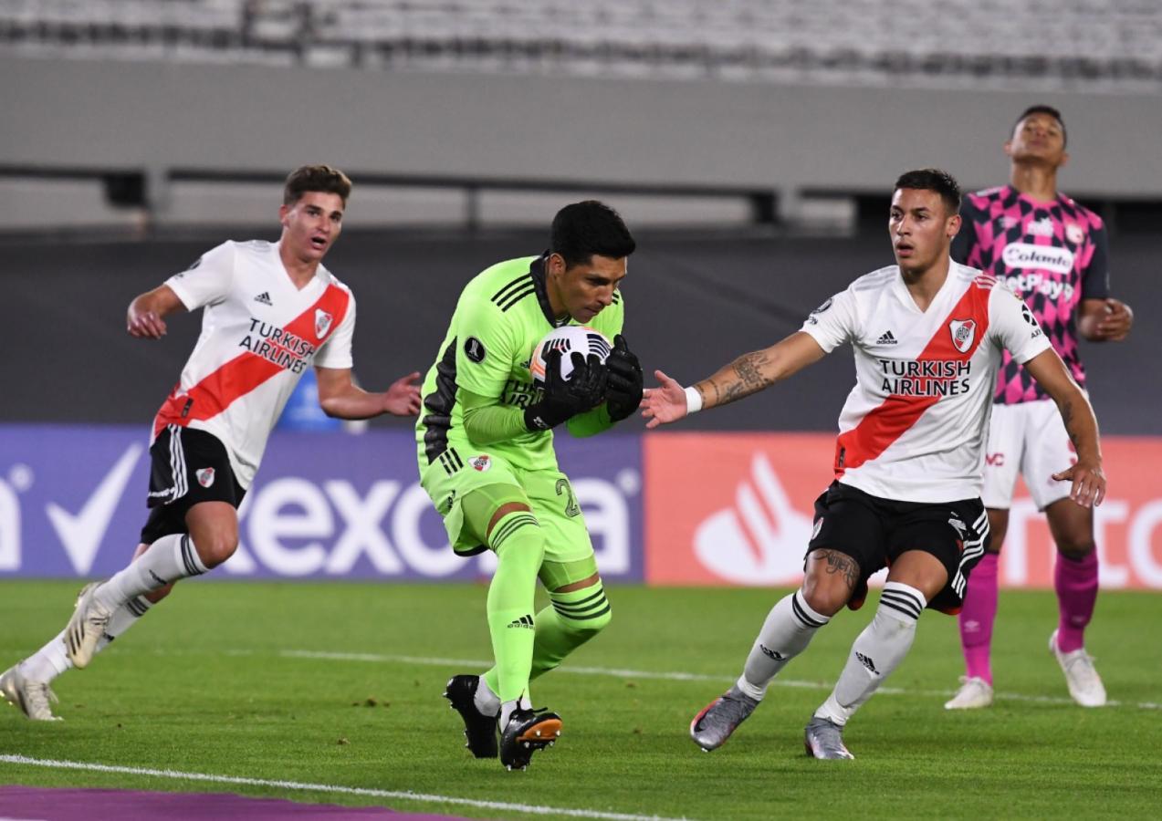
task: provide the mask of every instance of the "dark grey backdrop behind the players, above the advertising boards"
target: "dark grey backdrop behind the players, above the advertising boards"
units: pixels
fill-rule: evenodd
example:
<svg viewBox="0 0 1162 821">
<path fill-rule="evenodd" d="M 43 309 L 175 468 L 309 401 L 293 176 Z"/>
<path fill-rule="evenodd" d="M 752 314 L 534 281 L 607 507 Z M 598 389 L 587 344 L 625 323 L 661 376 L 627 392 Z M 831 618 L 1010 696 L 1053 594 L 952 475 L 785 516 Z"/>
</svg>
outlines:
<svg viewBox="0 0 1162 821">
<path fill-rule="evenodd" d="M 617 204 L 616 195 L 608 199 Z M 358 208 L 357 192 L 351 210 Z M 274 224 L 274 230 L 224 228 L 180 240 L 0 240 L 8 268 L 9 345 L 26 351 L 5 365 L 9 384 L 20 388 L 0 399 L 0 420 L 144 427 L 177 380 L 201 317 L 178 315 L 164 341 L 143 344 L 124 333 L 129 300 L 224 238 L 275 239 Z M 646 229 L 638 235 L 639 251 L 624 286 L 625 333 L 647 370 L 661 368 L 683 383 L 797 330 L 832 293 L 892 261 L 878 225 L 849 238 L 770 237 L 754 229 L 693 236 Z M 495 261 L 540 253 L 546 244 L 544 230 L 417 236 L 349 229 L 327 265 L 357 296 L 359 379 L 378 386 L 410 369 L 426 370 L 462 283 Z M 1162 326 L 1149 318 L 1162 311 L 1155 287 L 1162 240 L 1150 232 L 1121 231 L 1112 249 L 1113 293 L 1134 307 L 1139 322 L 1124 344 L 1082 344 L 1090 391 L 1105 433 L 1159 434 Z M 839 351 L 788 384 L 695 416 L 683 427 L 834 431 L 853 380 L 851 354 Z M 641 424 L 619 430 L 626 427 Z"/>
</svg>

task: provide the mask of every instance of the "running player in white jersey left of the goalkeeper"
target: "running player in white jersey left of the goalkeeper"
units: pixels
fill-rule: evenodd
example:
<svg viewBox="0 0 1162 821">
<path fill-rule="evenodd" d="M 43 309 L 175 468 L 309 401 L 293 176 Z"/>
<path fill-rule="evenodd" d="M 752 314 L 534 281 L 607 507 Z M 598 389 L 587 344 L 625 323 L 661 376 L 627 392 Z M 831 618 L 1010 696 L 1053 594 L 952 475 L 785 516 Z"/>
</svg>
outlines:
<svg viewBox="0 0 1162 821">
<path fill-rule="evenodd" d="M 227 242 L 129 304 L 128 332 L 160 339 L 171 314 L 202 308 L 202 332 L 181 380 L 153 420 L 148 504 L 134 561 L 81 591 L 67 627 L 0 676 L 28 718 L 50 721 L 50 683 L 123 634 L 168 595 L 238 547 L 238 505 L 267 437 L 303 372 L 314 366 L 323 410 L 342 419 L 415 416 L 418 373 L 386 391 L 351 379 L 356 302 L 322 265 L 343 230 L 351 181 L 329 166 L 286 180 L 279 242 Z"/>
</svg>

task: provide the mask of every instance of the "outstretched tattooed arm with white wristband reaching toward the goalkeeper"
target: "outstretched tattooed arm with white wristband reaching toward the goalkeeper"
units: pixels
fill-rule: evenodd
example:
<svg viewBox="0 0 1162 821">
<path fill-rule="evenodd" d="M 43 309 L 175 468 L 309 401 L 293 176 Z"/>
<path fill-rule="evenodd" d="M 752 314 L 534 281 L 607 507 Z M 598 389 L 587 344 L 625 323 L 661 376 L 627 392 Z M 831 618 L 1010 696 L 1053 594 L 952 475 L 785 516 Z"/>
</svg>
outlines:
<svg viewBox="0 0 1162 821">
<path fill-rule="evenodd" d="M 677 422 L 694 410 L 725 405 L 755 394 L 825 355 L 826 352 L 811 334 L 797 331 L 768 348 L 743 354 L 690 388 L 683 389 L 661 370 L 655 370 L 659 387 L 646 388 L 641 416 L 648 419 L 646 427 Z M 694 396 L 689 391 L 694 391 Z M 693 410 L 688 397 L 695 401 Z"/>
</svg>

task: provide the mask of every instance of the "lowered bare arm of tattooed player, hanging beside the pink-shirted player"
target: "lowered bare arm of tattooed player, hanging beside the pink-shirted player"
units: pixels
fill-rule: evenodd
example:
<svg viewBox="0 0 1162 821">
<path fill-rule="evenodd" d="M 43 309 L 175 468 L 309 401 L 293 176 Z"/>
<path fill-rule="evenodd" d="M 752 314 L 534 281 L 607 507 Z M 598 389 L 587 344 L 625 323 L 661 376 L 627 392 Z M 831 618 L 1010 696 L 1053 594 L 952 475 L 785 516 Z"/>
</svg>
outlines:
<svg viewBox="0 0 1162 821">
<path fill-rule="evenodd" d="M 1083 507 L 1102 504 L 1105 498 L 1105 474 L 1102 471 L 1102 445 L 1093 408 L 1053 348 L 1042 351 L 1025 362 L 1025 369 L 1057 403 L 1069 440 L 1077 451 L 1077 462 L 1053 474 L 1053 478 L 1059 482 L 1071 481 L 1069 496 Z"/>
</svg>

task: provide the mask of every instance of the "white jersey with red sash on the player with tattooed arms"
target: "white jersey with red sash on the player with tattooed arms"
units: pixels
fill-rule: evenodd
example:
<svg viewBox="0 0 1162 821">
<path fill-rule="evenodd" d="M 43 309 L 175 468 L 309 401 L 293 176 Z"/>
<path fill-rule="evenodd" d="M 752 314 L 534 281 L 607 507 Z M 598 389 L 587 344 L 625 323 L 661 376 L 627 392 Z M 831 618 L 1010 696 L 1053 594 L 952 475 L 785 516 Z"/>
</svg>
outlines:
<svg viewBox="0 0 1162 821">
<path fill-rule="evenodd" d="M 827 300 L 802 330 L 829 353 L 844 343 L 855 353 L 855 387 L 839 416 L 835 477 L 899 502 L 981 495 L 1002 351 L 1024 365 L 1050 347 L 1018 296 L 952 261 L 926 311 L 892 265 Z"/>
</svg>

